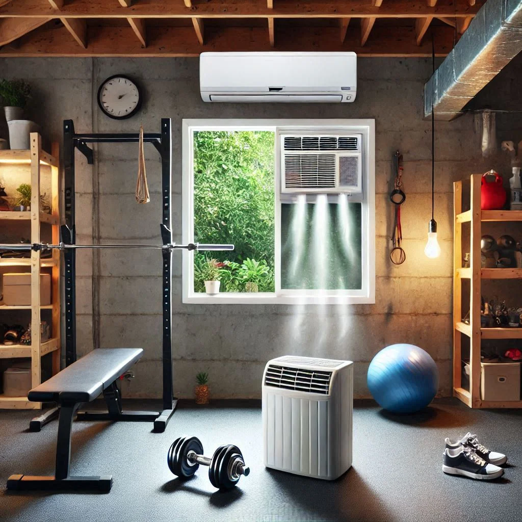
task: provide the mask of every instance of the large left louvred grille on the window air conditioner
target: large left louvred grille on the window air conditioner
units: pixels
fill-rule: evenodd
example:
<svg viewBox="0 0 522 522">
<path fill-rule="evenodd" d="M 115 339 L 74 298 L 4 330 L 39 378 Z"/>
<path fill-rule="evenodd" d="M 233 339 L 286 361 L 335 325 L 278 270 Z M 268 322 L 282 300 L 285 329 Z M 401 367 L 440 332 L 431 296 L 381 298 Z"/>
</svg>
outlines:
<svg viewBox="0 0 522 522">
<path fill-rule="evenodd" d="M 286 188 L 334 188 L 335 156 L 284 155 L 284 184 Z"/>
</svg>

